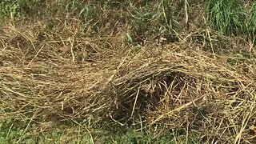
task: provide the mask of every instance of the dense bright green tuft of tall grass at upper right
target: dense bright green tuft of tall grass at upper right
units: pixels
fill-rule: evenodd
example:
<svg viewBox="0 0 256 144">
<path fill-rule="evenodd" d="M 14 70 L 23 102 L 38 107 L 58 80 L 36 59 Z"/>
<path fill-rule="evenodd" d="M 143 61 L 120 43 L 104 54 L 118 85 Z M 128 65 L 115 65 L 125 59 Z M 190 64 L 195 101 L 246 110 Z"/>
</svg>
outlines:
<svg viewBox="0 0 256 144">
<path fill-rule="evenodd" d="M 209 25 L 222 34 L 242 34 L 246 13 L 241 0 L 210 0 L 206 6 Z"/>
</svg>

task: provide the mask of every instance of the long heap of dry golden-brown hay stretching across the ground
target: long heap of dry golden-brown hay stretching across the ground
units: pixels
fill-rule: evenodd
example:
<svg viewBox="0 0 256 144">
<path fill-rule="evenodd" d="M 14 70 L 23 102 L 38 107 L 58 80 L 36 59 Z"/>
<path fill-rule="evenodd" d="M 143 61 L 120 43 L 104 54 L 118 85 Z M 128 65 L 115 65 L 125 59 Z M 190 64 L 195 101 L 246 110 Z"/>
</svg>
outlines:
<svg viewBox="0 0 256 144">
<path fill-rule="evenodd" d="M 142 117 L 143 126 L 175 134 L 196 130 L 202 142 L 255 142 L 254 54 L 213 55 L 193 42 L 118 48 L 115 38 L 72 30 L 2 29 L 2 122 L 129 125 Z"/>
</svg>

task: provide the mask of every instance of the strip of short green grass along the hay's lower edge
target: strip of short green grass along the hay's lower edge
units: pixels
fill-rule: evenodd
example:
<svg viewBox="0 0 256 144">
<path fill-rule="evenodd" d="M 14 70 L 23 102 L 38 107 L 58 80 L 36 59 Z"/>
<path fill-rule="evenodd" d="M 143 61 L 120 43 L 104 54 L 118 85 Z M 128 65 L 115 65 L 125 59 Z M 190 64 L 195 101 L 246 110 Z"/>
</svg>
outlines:
<svg viewBox="0 0 256 144">
<path fill-rule="evenodd" d="M 137 129 L 135 126 L 110 126 L 109 123 L 78 125 L 65 123 L 57 127 L 33 124 L 26 129 L 26 124 L 8 121 L 0 127 L 0 143 L 198 143 L 197 134 L 175 134 L 170 130 Z M 54 128 L 53 128 L 54 127 Z M 41 131 L 38 133 L 38 130 Z M 33 133 L 37 131 L 37 133 Z"/>
</svg>

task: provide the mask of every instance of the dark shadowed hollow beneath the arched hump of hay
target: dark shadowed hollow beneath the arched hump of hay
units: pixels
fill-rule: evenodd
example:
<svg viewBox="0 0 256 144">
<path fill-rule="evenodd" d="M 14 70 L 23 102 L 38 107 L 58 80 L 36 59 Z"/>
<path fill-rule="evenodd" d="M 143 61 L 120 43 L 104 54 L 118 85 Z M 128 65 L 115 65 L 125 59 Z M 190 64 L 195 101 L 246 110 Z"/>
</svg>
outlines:
<svg viewBox="0 0 256 144">
<path fill-rule="evenodd" d="M 119 122 L 130 120 L 137 94 L 138 98 L 133 118 L 136 119 L 139 115 L 141 115 L 142 118 L 146 118 L 150 111 L 158 110 L 159 102 L 166 93 L 166 87 L 169 87 L 172 82 L 173 85 L 176 85 L 174 90 L 182 90 L 182 86 L 184 85 L 182 84 L 182 77 L 185 76 L 185 74 L 180 72 L 170 72 L 166 73 L 166 75 L 162 74 L 157 78 L 153 78 L 152 75 L 149 75 L 149 78 L 145 78 L 144 80 L 130 80 L 126 83 L 122 83 L 121 86 L 115 87 L 115 93 L 119 97 L 115 98 L 117 107 L 111 110 L 113 118 Z"/>
</svg>

